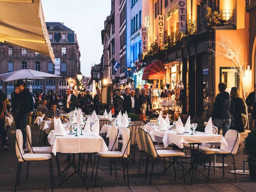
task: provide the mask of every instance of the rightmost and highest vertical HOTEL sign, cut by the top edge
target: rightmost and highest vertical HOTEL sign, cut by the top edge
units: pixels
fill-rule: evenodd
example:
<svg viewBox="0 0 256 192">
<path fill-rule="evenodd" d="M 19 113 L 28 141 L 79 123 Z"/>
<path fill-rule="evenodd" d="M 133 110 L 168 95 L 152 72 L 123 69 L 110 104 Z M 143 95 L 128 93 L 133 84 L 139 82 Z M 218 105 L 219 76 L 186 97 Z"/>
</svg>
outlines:
<svg viewBox="0 0 256 192">
<path fill-rule="evenodd" d="M 186 32 L 186 0 L 178 0 L 179 27 L 180 32 Z"/>
</svg>

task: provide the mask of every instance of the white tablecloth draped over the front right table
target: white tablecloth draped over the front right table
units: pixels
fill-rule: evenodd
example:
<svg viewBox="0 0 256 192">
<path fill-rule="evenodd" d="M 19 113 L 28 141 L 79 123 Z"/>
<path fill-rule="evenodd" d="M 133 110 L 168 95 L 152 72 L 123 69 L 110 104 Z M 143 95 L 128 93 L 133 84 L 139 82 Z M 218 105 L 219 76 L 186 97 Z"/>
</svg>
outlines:
<svg viewBox="0 0 256 192">
<path fill-rule="evenodd" d="M 174 143 L 179 148 L 183 148 L 183 143 L 209 143 L 220 147 L 227 147 L 227 142 L 224 137 L 218 134 L 204 134 L 197 132 L 197 134 L 194 133 L 194 135 L 191 135 L 191 131 L 189 131 L 187 134 L 180 135 L 176 134 L 175 131 L 160 130 L 153 130 L 151 134 L 157 137 L 162 137 L 164 147 L 167 147 L 171 143 Z"/>
</svg>

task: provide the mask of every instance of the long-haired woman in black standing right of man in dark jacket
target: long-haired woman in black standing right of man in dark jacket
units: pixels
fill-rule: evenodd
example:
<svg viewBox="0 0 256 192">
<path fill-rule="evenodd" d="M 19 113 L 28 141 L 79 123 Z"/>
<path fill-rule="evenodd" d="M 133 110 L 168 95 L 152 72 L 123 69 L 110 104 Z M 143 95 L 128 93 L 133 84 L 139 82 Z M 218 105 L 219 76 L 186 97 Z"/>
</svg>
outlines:
<svg viewBox="0 0 256 192">
<path fill-rule="evenodd" d="M 244 132 L 244 124 L 243 124 L 241 113 L 243 113 L 244 102 L 243 102 L 243 99 L 239 97 L 239 90 L 237 87 L 231 88 L 230 97 L 235 105 L 235 111 L 233 114 L 233 118 L 235 120 L 234 129 L 239 133 L 242 133 Z"/>
</svg>

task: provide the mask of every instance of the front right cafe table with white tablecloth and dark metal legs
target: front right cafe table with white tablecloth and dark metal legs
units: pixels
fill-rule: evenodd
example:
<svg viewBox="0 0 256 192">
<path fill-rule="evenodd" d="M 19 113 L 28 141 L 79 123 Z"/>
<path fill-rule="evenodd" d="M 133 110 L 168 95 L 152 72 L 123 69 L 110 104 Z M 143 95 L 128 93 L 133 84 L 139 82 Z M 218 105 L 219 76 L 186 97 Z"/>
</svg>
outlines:
<svg viewBox="0 0 256 192">
<path fill-rule="evenodd" d="M 213 144 L 220 147 L 227 147 L 227 142 L 222 135 L 205 134 L 202 132 L 197 132 L 196 134 L 194 133 L 192 135 L 191 131 L 188 131 L 188 132 L 189 133 L 176 134 L 174 130 L 161 131 L 161 130 L 154 129 L 151 131 L 150 134 L 158 138 L 163 138 L 163 144 L 165 148 L 172 143 L 177 145 L 177 147 L 179 148 L 183 148 L 183 143 L 190 144 L 191 165 L 190 165 L 190 169 L 187 170 L 186 174 L 191 173 L 192 171 L 192 176 L 191 176 L 191 184 L 192 184 L 194 170 L 200 172 L 204 177 L 206 177 L 206 175 L 204 175 L 203 172 L 201 172 L 198 169 L 199 147 L 195 147 L 195 145 L 199 146 L 201 143 L 209 143 L 209 144 Z M 185 175 L 183 177 L 185 177 Z"/>
</svg>

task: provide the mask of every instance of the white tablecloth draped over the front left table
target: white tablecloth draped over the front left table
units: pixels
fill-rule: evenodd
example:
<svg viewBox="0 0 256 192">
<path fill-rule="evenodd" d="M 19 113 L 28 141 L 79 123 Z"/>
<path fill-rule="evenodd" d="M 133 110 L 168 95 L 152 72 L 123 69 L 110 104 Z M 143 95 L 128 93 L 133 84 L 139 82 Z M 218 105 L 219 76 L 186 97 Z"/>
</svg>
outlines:
<svg viewBox="0 0 256 192">
<path fill-rule="evenodd" d="M 83 132 L 84 135 L 75 137 L 75 135 L 56 136 L 56 133 L 50 132 L 48 142 L 53 145 L 52 152 L 59 153 L 95 153 L 99 151 L 106 152 L 108 147 L 102 137 L 93 137 L 92 132 Z"/>
</svg>

